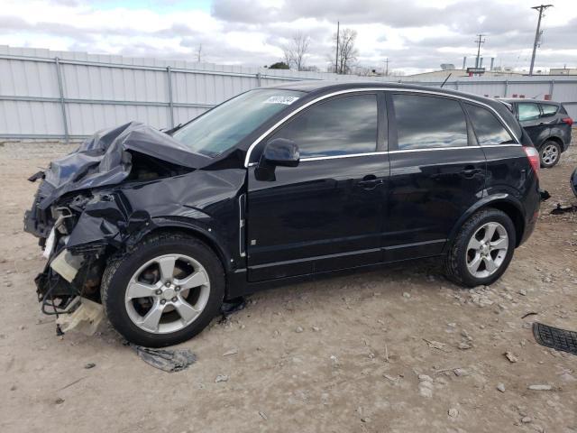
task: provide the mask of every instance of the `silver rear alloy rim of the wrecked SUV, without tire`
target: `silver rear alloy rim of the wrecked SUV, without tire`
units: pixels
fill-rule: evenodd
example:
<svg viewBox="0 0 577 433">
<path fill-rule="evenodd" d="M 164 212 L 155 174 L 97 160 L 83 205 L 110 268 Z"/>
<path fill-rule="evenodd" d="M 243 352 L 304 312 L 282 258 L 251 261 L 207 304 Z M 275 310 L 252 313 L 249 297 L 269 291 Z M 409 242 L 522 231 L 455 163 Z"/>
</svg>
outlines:
<svg viewBox="0 0 577 433">
<path fill-rule="evenodd" d="M 508 252 L 508 235 L 504 226 L 490 222 L 482 225 L 467 244 L 467 269 L 475 278 L 487 278 L 499 270 Z"/>
</svg>

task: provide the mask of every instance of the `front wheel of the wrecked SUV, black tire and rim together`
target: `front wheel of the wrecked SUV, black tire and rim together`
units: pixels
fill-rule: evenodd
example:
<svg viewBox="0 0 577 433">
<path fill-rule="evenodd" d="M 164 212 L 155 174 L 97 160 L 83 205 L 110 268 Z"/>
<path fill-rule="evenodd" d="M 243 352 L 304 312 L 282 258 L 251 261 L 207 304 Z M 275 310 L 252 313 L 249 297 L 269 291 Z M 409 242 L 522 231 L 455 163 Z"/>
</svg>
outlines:
<svg viewBox="0 0 577 433">
<path fill-rule="evenodd" d="M 218 314 L 224 299 L 223 265 L 194 237 L 150 235 L 111 258 L 101 297 L 106 317 L 129 342 L 176 345 L 196 336 Z"/>
</svg>

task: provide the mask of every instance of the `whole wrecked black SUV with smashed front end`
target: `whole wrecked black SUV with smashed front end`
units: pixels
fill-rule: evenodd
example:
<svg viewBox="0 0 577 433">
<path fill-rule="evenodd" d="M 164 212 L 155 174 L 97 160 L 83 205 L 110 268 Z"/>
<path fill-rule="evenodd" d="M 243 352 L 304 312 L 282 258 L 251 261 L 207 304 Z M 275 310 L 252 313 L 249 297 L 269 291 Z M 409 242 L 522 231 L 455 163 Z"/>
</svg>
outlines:
<svg viewBox="0 0 577 433">
<path fill-rule="evenodd" d="M 32 176 L 25 229 L 48 258 L 43 310 L 96 301 L 128 340 L 172 345 L 224 299 L 327 272 L 440 256 L 451 280 L 490 284 L 536 224 L 538 170 L 499 101 L 298 82 L 166 133 L 96 134 Z"/>
</svg>

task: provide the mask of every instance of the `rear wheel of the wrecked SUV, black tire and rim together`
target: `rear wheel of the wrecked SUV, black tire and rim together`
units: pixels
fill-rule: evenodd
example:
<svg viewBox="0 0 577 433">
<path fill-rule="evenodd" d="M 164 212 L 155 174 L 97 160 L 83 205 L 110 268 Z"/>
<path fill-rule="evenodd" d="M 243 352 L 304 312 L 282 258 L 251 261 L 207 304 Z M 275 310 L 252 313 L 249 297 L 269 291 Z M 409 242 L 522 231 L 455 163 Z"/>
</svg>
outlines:
<svg viewBox="0 0 577 433">
<path fill-rule="evenodd" d="M 492 227 L 494 232 L 487 246 L 485 238 Z M 480 210 L 463 224 L 455 237 L 445 258 L 445 274 L 465 287 L 490 285 L 507 271 L 516 242 L 515 226 L 507 214 L 494 208 Z M 500 249 L 505 246 L 506 250 Z M 475 266 L 478 266 L 476 272 L 470 271 Z M 497 268 L 492 269 L 493 266 Z"/>
</svg>

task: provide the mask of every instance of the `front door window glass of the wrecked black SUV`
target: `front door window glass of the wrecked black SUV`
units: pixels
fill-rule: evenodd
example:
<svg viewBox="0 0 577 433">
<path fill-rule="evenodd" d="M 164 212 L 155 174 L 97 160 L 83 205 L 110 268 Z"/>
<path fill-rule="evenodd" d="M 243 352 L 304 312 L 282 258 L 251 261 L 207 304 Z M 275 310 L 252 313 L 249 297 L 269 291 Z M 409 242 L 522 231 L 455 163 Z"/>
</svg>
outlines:
<svg viewBox="0 0 577 433">
<path fill-rule="evenodd" d="M 320 102 L 273 134 L 297 143 L 301 158 L 377 150 L 377 96 L 352 95 Z"/>
</svg>

